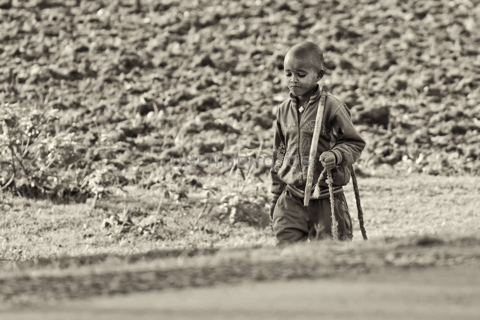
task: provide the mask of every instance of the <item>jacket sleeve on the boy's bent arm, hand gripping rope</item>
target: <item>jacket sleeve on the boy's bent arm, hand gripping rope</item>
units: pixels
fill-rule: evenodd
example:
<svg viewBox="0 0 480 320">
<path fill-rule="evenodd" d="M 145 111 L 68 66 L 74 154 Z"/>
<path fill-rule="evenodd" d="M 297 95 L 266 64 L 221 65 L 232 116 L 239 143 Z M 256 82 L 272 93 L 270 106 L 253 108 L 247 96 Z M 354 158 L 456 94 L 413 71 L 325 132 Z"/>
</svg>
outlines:
<svg viewBox="0 0 480 320">
<path fill-rule="evenodd" d="M 357 162 L 365 148 L 365 141 L 353 126 L 350 111 L 345 105 L 339 107 L 335 113 L 332 135 L 332 138 L 336 139 L 331 150 L 335 154 L 336 165 L 350 166 Z"/>
</svg>

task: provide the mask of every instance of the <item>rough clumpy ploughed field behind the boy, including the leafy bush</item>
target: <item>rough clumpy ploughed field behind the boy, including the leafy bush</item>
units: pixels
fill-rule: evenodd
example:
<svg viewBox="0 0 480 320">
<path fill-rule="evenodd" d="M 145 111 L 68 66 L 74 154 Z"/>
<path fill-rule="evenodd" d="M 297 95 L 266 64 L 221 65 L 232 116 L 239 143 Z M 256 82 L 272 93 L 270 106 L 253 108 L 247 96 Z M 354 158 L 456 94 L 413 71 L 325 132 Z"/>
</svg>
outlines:
<svg viewBox="0 0 480 320">
<path fill-rule="evenodd" d="M 283 57 L 303 40 L 325 50 L 324 84 L 367 140 L 361 170 L 477 175 L 479 4 L 1 1 L 0 188 L 180 196 L 231 170 L 172 157 L 254 154 L 262 141 L 255 156 L 267 156 Z"/>
</svg>

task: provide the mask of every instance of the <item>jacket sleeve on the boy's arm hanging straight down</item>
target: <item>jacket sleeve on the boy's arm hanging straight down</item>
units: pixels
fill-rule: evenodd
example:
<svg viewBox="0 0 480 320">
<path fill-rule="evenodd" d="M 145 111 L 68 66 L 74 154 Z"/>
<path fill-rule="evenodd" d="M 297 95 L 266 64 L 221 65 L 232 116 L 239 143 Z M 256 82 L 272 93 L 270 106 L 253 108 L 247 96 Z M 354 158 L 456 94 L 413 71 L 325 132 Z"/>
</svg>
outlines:
<svg viewBox="0 0 480 320">
<path fill-rule="evenodd" d="M 273 193 L 271 203 L 275 206 L 276 201 L 282 194 L 283 190 L 286 187 L 286 184 L 278 178 L 278 170 L 282 166 L 283 158 L 285 156 L 286 143 L 285 137 L 282 132 L 282 127 L 280 124 L 280 108 L 277 111 L 276 115 L 276 125 L 273 141 L 273 151 L 272 151 L 272 167 L 270 168 L 270 175 L 272 176 L 272 188 L 271 192 Z M 273 208 L 272 208 L 273 210 Z"/>
</svg>

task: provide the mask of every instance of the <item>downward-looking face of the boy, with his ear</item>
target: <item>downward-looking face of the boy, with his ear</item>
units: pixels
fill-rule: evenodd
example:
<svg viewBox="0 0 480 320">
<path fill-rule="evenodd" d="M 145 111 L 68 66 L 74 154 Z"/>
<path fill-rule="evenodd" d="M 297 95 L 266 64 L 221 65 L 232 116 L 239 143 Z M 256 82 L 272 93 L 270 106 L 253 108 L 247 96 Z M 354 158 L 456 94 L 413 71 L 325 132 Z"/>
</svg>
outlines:
<svg viewBox="0 0 480 320">
<path fill-rule="evenodd" d="M 315 70 L 306 59 L 299 59 L 290 53 L 283 62 L 285 82 L 294 96 L 308 94 L 322 79 L 323 72 Z"/>
</svg>

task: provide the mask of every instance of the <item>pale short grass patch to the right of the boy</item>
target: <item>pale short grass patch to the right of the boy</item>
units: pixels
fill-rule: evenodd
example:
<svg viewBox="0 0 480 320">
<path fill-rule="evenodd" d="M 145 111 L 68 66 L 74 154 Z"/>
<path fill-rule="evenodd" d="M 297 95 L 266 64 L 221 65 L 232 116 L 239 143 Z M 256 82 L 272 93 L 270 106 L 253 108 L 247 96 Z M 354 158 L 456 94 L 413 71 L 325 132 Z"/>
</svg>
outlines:
<svg viewBox="0 0 480 320">
<path fill-rule="evenodd" d="M 359 188 L 369 238 L 458 237 L 480 232 L 479 177 L 359 178 Z M 353 218 L 357 210 L 351 185 L 346 197 Z M 359 241 L 356 228 L 354 240 Z"/>
</svg>

